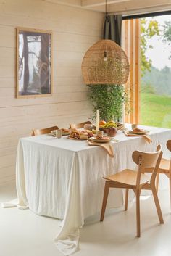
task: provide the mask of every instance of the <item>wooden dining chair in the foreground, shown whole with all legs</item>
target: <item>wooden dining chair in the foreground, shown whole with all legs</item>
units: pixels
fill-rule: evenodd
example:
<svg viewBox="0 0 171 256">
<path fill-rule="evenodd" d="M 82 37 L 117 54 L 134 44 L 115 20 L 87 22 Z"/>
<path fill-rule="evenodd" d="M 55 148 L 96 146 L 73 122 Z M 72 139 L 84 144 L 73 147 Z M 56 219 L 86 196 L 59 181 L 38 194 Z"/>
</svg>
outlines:
<svg viewBox="0 0 171 256">
<path fill-rule="evenodd" d="M 133 152 L 133 161 L 138 165 L 138 171 L 125 169 L 120 173 L 116 173 L 111 176 L 104 177 L 106 179 L 104 188 L 104 199 L 101 209 L 101 218 L 104 220 L 104 212 L 107 205 L 107 197 L 109 194 L 109 188 L 122 188 L 126 189 L 125 193 L 125 210 L 128 208 L 128 191 L 133 189 L 136 197 L 136 223 L 137 223 L 137 236 L 141 236 L 141 226 L 140 226 L 140 194 L 141 189 L 151 189 L 154 202 L 157 208 L 157 214 L 159 217 L 159 222 L 164 223 L 162 218 L 162 211 L 159 205 L 159 199 L 157 197 L 157 190 L 155 187 L 155 178 L 157 176 L 157 170 L 159 168 L 159 163 L 162 159 L 161 146 L 157 146 L 157 152 Z M 146 176 L 144 173 L 145 168 L 153 168 L 153 173 L 151 178 Z"/>
</svg>

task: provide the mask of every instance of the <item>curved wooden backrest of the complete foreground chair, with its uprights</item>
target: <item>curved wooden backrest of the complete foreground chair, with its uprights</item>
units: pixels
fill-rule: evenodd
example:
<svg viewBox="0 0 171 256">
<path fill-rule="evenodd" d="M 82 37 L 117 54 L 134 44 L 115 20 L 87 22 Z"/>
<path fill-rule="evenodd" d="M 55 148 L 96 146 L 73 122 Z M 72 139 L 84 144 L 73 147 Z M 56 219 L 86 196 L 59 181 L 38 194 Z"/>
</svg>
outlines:
<svg viewBox="0 0 171 256">
<path fill-rule="evenodd" d="M 139 186 L 141 181 L 141 173 L 145 173 L 146 168 L 152 168 L 152 175 L 150 182 L 154 182 L 157 176 L 157 170 L 159 169 L 159 164 L 162 159 L 162 149 L 161 146 L 157 146 L 156 152 L 133 152 L 133 161 L 138 165 L 137 181 L 136 186 Z"/>
</svg>

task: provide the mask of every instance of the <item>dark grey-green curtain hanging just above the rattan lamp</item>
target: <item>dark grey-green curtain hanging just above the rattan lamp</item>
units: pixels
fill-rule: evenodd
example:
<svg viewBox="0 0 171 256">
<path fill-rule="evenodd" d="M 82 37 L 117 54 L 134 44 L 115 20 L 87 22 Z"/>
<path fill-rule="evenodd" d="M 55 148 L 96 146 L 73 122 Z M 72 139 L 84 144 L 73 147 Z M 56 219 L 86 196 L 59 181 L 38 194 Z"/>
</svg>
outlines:
<svg viewBox="0 0 171 256">
<path fill-rule="evenodd" d="M 109 15 L 104 20 L 104 39 L 121 44 L 122 15 Z"/>
</svg>

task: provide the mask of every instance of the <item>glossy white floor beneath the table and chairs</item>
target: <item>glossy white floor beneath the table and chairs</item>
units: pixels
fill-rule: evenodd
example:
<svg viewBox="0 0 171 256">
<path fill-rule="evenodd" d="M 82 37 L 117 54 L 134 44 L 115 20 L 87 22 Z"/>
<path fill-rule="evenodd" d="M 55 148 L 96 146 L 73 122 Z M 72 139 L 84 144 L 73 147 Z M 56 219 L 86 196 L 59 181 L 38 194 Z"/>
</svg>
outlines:
<svg viewBox="0 0 171 256">
<path fill-rule="evenodd" d="M 0 187 L 0 202 L 16 197 L 14 183 Z M 135 204 L 128 211 L 107 212 L 86 221 L 77 256 L 169 256 L 171 213 L 168 191 L 159 192 L 164 225 L 159 224 L 153 198 L 141 201 L 141 238 L 135 237 Z M 0 207 L 0 256 L 59 256 L 53 237 L 57 220 L 30 210 Z"/>
</svg>

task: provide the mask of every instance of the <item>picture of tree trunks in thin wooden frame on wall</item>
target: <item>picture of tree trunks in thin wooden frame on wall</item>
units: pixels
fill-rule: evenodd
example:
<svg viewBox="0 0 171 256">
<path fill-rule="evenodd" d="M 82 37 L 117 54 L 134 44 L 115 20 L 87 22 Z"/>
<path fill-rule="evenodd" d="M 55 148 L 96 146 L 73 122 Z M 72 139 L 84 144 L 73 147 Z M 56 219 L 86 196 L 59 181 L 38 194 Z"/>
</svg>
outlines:
<svg viewBox="0 0 171 256">
<path fill-rule="evenodd" d="M 17 28 L 17 98 L 52 93 L 52 33 Z"/>
</svg>

